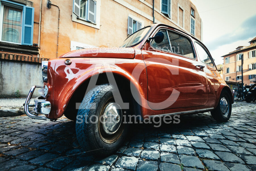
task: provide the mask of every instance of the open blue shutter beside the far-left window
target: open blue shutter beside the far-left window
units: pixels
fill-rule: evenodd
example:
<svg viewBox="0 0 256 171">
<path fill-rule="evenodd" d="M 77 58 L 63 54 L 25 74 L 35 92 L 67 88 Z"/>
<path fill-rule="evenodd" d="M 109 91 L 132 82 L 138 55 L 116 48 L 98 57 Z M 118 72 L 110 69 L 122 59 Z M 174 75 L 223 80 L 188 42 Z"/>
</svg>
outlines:
<svg viewBox="0 0 256 171">
<path fill-rule="evenodd" d="M 34 8 L 23 7 L 22 44 L 33 45 Z"/>
</svg>

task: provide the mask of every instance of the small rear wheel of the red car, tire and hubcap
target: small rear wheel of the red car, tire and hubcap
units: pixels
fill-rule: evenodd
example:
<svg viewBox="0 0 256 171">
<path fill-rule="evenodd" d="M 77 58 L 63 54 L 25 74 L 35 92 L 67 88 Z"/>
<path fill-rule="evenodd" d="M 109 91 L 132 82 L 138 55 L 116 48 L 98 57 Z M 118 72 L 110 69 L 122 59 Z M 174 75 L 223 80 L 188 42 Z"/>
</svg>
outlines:
<svg viewBox="0 0 256 171">
<path fill-rule="evenodd" d="M 231 116 L 231 97 L 226 90 L 222 90 L 217 107 L 211 111 L 212 117 L 219 122 L 226 122 Z"/>
</svg>

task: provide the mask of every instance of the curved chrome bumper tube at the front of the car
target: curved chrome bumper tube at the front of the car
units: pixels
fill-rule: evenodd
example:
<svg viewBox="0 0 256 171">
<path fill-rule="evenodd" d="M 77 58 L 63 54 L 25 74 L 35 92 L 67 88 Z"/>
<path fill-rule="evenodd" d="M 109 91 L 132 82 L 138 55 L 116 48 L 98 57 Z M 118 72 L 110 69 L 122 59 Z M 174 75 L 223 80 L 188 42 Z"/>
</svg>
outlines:
<svg viewBox="0 0 256 171">
<path fill-rule="evenodd" d="M 33 118 L 33 119 L 49 119 L 49 118 L 47 118 L 47 117 L 45 117 L 45 116 L 33 115 L 33 114 L 30 113 L 29 110 L 28 110 L 28 107 L 30 106 L 30 105 L 29 105 L 30 99 L 31 99 L 31 97 L 32 97 L 32 95 L 33 95 L 33 93 L 34 93 L 34 90 L 35 90 L 36 88 L 43 88 L 43 87 L 42 87 L 42 86 L 36 86 L 36 85 L 34 85 L 34 86 L 31 87 L 31 89 L 30 89 L 30 91 L 29 91 L 29 93 L 28 93 L 28 97 L 27 97 L 27 99 L 26 99 L 26 102 L 24 103 L 24 111 L 25 111 L 26 115 L 28 115 L 28 117 L 31 117 L 31 118 Z M 51 120 L 51 119 L 50 119 L 50 120 Z"/>
</svg>

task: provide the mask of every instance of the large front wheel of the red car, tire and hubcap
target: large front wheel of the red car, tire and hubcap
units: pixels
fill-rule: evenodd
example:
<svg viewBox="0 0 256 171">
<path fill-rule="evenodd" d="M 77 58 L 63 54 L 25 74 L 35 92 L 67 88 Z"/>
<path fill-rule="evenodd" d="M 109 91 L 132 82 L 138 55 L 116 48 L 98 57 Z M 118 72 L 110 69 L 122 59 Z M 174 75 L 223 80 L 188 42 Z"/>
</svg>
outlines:
<svg viewBox="0 0 256 171">
<path fill-rule="evenodd" d="M 103 84 L 90 90 L 80 104 L 76 134 L 80 146 L 92 154 L 110 155 L 123 143 L 128 124 L 123 123 L 127 111 L 114 101 L 113 86 Z"/>
</svg>

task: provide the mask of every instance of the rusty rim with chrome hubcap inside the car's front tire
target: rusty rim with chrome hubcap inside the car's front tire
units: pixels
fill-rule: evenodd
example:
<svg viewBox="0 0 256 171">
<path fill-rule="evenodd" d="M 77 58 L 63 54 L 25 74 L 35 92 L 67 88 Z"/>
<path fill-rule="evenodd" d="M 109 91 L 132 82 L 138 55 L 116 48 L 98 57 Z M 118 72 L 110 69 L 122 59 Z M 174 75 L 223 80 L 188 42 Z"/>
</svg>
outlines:
<svg viewBox="0 0 256 171">
<path fill-rule="evenodd" d="M 112 144 L 121 137 L 124 130 L 122 117 L 121 107 L 113 102 L 113 97 L 107 100 L 101 109 L 98 121 L 98 130 L 102 141 Z"/>
</svg>

